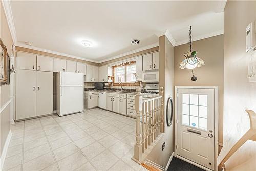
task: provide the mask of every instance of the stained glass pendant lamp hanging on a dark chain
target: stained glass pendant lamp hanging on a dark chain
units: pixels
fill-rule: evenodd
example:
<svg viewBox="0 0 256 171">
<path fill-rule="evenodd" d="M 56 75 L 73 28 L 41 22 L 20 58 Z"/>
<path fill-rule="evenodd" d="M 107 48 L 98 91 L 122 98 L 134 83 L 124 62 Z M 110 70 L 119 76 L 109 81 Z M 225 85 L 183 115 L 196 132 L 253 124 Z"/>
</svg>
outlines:
<svg viewBox="0 0 256 171">
<path fill-rule="evenodd" d="M 184 59 L 180 63 L 180 69 L 194 69 L 196 67 L 201 67 L 204 66 L 204 61 L 200 59 L 199 57 L 196 57 L 197 51 L 192 52 L 192 31 L 191 31 L 192 26 L 190 26 L 189 30 L 189 47 L 190 51 L 185 53 L 184 56 L 186 59 Z"/>
</svg>

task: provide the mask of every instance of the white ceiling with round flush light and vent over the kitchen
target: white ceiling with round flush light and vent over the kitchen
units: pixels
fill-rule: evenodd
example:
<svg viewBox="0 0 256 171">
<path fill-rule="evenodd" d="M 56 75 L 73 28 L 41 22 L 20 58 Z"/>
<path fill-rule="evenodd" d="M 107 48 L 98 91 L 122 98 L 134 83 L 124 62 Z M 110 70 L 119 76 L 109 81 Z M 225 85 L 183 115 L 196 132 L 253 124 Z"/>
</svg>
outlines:
<svg viewBox="0 0 256 171">
<path fill-rule="evenodd" d="M 173 44 L 223 33 L 225 1 L 11 1 L 17 45 L 102 62 L 158 44 L 168 29 Z M 131 45 L 138 38 L 139 45 Z M 83 47 L 82 40 L 94 46 Z M 153 45 L 152 45 L 153 44 Z"/>
</svg>

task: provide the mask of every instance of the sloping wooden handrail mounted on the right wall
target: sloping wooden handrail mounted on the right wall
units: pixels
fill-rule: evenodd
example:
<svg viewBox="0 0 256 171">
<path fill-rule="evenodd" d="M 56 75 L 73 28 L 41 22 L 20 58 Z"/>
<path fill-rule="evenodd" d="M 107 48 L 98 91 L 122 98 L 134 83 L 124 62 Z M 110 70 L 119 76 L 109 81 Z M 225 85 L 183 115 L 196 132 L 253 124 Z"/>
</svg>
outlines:
<svg viewBox="0 0 256 171">
<path fill-rule="evenodd" d="M 218 158 L 217 165 L 221 168 L 224 163 L 247 141 L 256 141 L 256 113 L 252 110 L 245 110 L 249 115 L 250 129 L 227 151 L 223 146 Z"/>
</svg>

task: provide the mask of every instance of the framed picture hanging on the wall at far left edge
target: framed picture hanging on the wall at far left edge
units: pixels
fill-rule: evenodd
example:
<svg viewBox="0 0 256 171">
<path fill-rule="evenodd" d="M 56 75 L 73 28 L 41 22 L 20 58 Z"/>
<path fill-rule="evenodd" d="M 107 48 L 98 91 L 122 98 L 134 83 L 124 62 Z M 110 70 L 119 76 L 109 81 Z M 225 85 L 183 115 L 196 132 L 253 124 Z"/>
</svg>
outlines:
<svg viewBox="0 0 256 171">
<path fill-rule="evenodd" d="M 7 49 L 0 39 L 0 82 L 7 82 Z M 10 62 L 9 62 L 10 63 Z"/>
</svg>

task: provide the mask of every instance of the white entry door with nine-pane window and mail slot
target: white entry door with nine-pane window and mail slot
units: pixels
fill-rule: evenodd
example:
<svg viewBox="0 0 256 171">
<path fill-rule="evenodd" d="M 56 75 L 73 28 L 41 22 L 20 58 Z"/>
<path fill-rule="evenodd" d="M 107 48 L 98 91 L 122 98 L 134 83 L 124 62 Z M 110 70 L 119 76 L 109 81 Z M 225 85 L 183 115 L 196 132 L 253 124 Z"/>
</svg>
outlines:
<svg viewBox="0 0 256 171">
<path fill-rule="evenodd" d="M 177 89 L 177 155 L 214 170 L 214 89 Z"/>
</svg>

